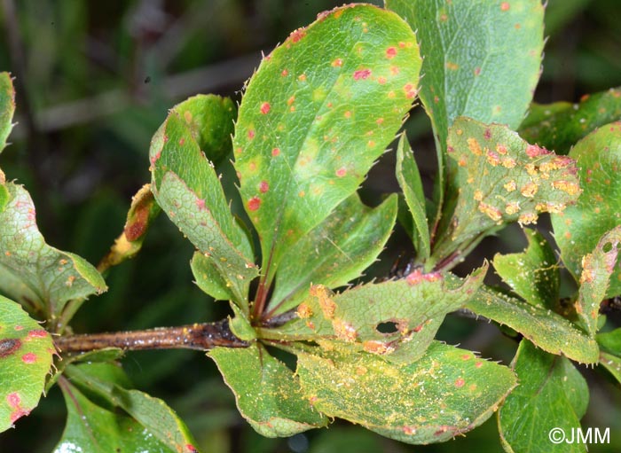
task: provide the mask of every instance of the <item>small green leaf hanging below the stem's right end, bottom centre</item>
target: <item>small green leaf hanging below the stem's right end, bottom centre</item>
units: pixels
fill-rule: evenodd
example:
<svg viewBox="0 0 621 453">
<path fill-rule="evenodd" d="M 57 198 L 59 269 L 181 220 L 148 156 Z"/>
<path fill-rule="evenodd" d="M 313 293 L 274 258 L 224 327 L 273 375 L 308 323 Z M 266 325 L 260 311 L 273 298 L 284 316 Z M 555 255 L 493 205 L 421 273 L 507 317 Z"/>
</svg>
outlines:
<svg viewBox="0 0 621 453">
<path fill-rule="evenodd" d="M 303 398 L 293 371 L 260 344 L 215 348 L 208 355 L 235 394 L 241 415 L 257 433 L 285 437 L 327 425 L 327 418 Z"/>
</svg>

